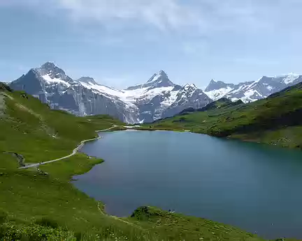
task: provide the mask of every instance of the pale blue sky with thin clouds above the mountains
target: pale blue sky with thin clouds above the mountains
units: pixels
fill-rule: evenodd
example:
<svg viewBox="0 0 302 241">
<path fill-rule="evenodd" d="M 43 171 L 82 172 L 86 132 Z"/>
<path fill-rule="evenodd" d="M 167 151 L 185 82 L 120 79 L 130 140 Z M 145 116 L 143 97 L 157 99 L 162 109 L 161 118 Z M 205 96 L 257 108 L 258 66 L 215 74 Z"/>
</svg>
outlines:
<svg viewBox="0 0 302 241">
<path fill-rule="evenodd" d="M 301 0 L 0 0 L 0 80 L 46 61 L 124 88 L 302 74 Z"/>
</svg>

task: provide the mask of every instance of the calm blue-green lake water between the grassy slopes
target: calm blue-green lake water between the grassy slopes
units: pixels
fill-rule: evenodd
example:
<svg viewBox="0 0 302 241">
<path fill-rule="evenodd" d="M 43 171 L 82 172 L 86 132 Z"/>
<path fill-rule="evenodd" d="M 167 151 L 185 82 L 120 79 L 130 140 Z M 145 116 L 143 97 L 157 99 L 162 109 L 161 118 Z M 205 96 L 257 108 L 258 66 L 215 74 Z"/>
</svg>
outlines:
<svg viewBox="0 0 302 241">
<path fill-rule="evenodd" d="M 131 215 L 153 205 L 264 238 L 302 238 L 302 152 L 189 132 L 100 133 L 82 152 L 104 162 L 73 184 Z"/>
</svg>

